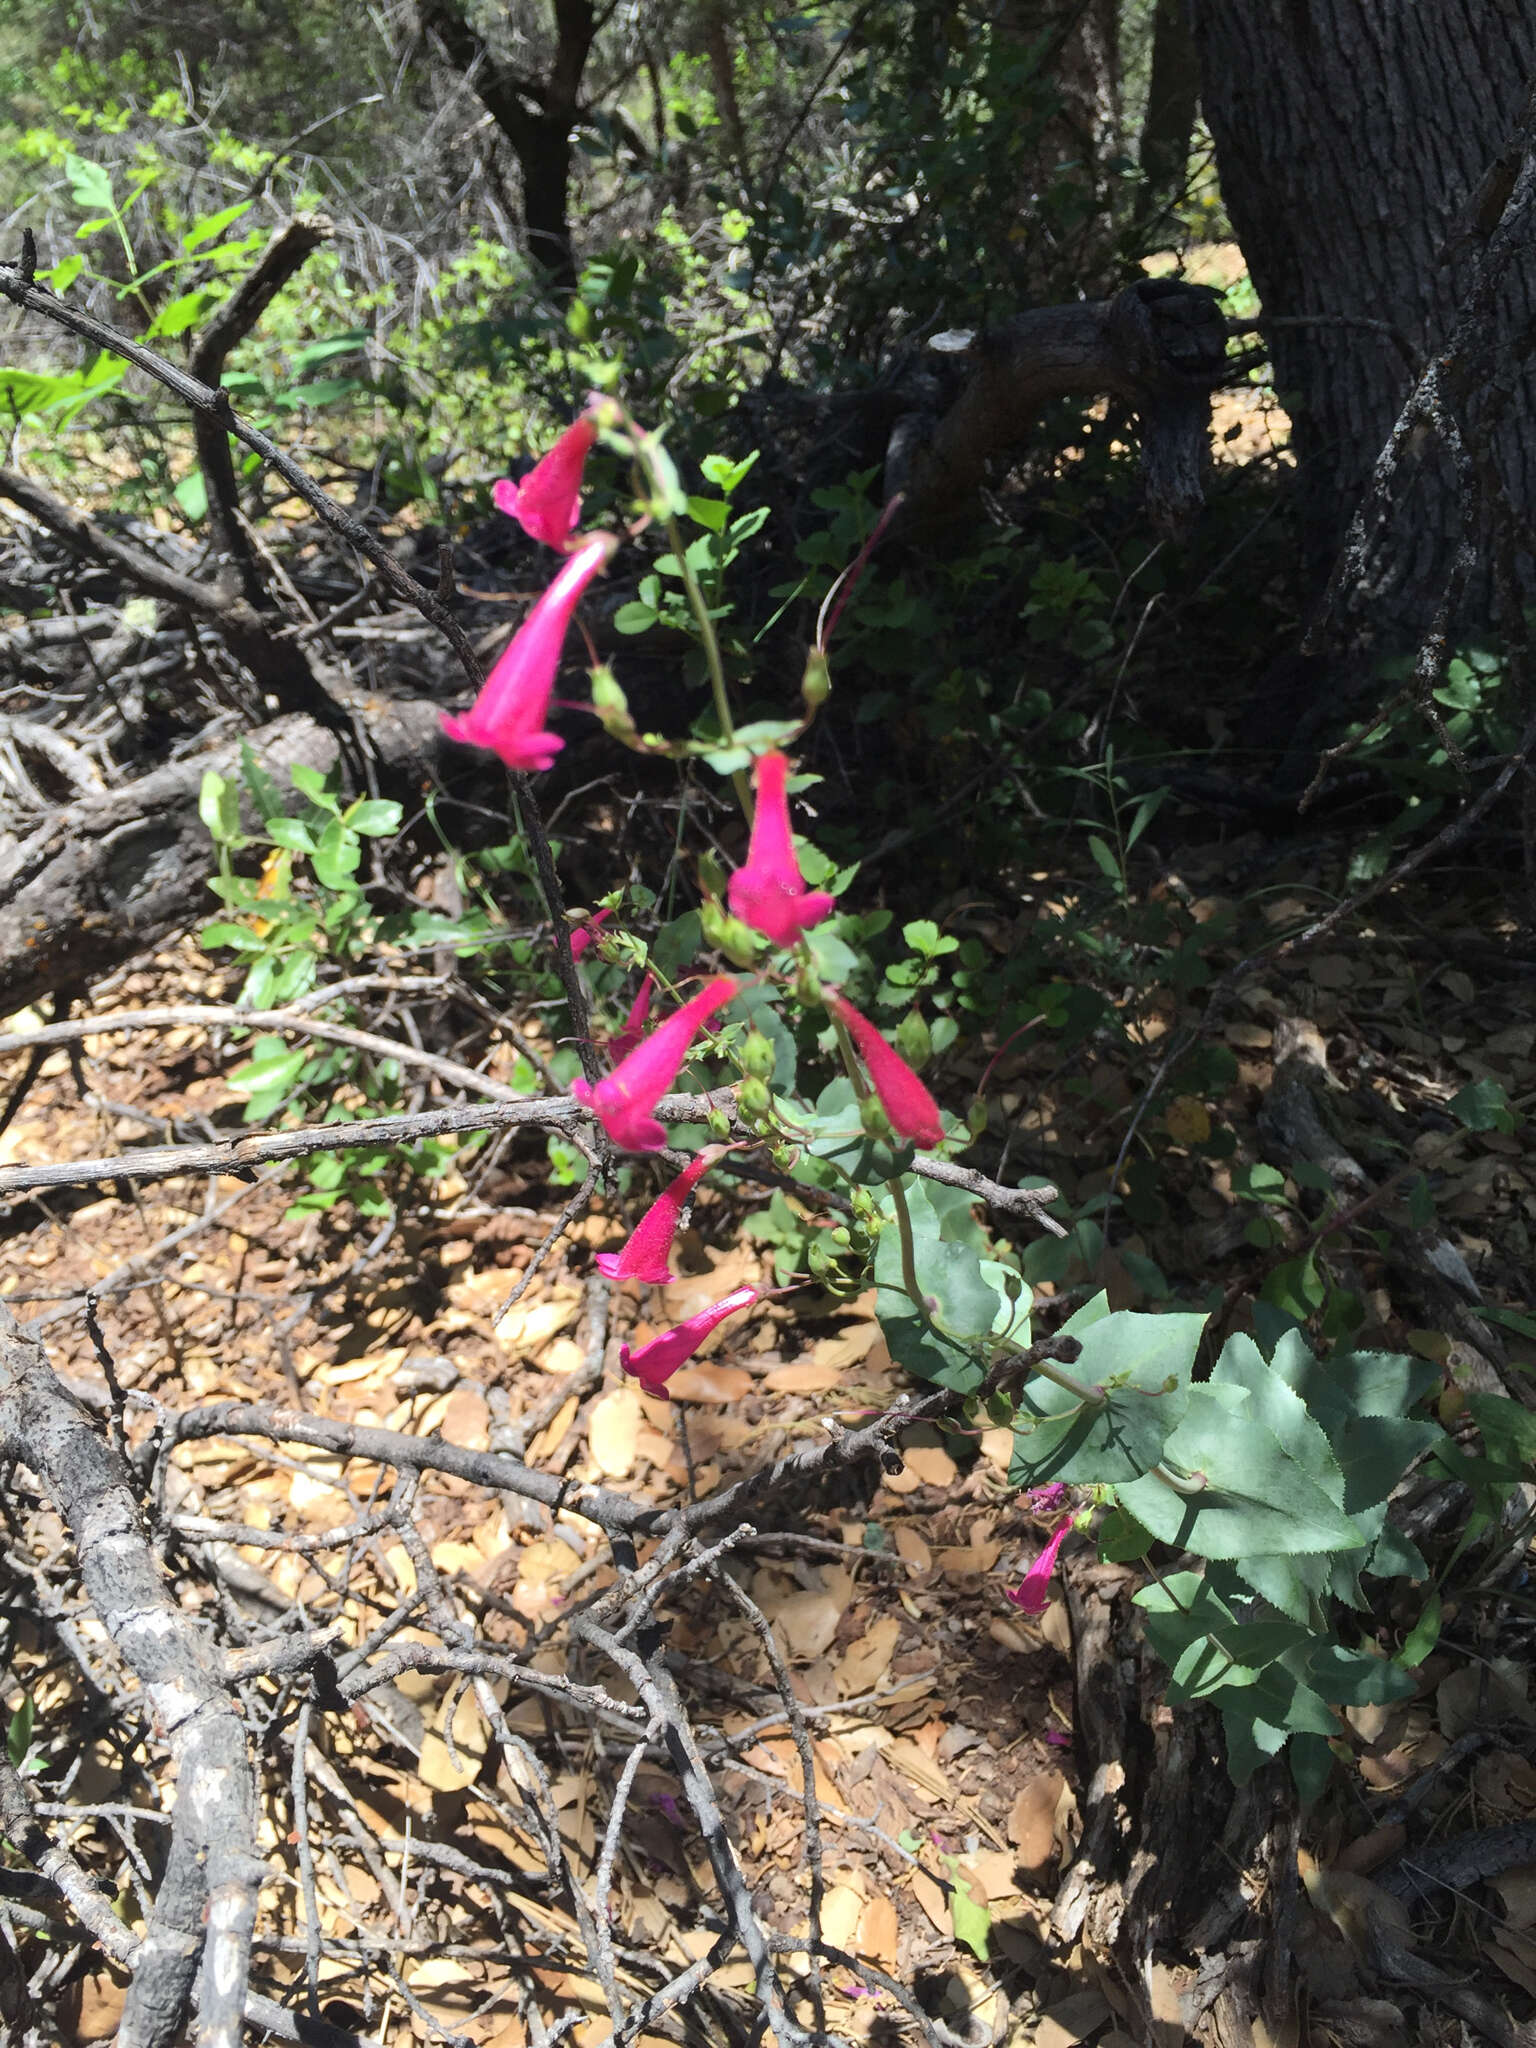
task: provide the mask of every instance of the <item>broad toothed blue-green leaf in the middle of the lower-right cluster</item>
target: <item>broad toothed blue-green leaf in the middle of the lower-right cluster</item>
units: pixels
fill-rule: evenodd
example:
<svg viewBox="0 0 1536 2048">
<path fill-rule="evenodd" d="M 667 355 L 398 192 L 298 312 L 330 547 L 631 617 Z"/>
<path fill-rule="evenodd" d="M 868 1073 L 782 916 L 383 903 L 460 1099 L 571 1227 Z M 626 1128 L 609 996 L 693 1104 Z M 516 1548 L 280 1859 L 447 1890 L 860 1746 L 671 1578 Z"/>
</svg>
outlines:
<svg viewBox="0 0 1536 2048">
<path fill-rule="evenodd" d="M 1120 1499 L 1153 1536 L 1198 1556 L 1360 1550 L 1364 1536 L 1327 1491 L 1286 1454 L 1272 1430 L 1223 1401 L 1237 1389 L 1192 1386 L 1186 1413 L 1163 1442 L 1163 1462 L 1202 1481 L 1178 1493 L 1147 1477 Z"/>
</svg>

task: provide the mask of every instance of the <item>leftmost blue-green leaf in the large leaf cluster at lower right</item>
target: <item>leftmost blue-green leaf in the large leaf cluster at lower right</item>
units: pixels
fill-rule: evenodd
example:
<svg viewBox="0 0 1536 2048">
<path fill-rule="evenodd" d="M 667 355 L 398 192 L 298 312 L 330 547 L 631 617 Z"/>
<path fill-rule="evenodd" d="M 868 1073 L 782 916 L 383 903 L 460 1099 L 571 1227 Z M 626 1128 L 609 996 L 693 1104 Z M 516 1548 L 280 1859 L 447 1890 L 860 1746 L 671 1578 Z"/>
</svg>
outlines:
<svg viewBox="0 0 1536 2048">
<path fill-rule="evenodd" d="M 1079 1329 L 1073 1317 L 1067 1329 L 1081 1337 L 1083 1350 L 1071 1376 L 1106 1386 L 1108 1401 L 1092 1407 L 1065 1386 L 1030 1380 L 1020 1395 L 1010 1483 L 1122 1485 L 1149 1473 L 1190 1399 L 1190 1366 L 1204 1321 L 1202 1315 L 1122 1311 Z M 1145 1516 L 1139 1520 L 1153 1528 Z"/>
</svg>

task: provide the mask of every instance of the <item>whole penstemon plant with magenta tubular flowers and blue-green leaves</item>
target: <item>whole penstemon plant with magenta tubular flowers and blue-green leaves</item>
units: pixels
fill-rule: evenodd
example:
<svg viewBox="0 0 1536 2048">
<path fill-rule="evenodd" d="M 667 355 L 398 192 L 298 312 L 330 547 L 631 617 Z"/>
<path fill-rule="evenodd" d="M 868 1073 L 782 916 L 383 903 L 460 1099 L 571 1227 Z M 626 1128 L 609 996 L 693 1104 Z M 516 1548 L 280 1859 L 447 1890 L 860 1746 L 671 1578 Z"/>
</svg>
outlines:
<svg viewBox="0 0 1536 2048">
<path fill-rule="evenodd" d="M 582 471 L 598 440 L 633 465 L 637 518 L 625 537 L 582 532 Z M 625 928 L 618 895 L 571 938 L 578 958 L 596 952 L 641 975 L 608 1044 L 608 1073 L 575 1081 L 571 1094 L 610 1147 L 696 1147 L 625 1247 L 602 1255 L 602 1270 L 666 1284 L 694 1186 L 731 1153 L 766 1147 L 805 1192 L 801 1202 L 778 1192 L 758 1219 L 760 1235 L 778 1243 L 778 1278 L 809 1274 L 834 1292 L 872 1284 L 891 1356 L 948 1391 L 965 1425 L 1012 1430 L 1010 1481 L 1053 1530 L 1008 1597 L 1038 1614 L 1061 1546 L 1073 1530 L 1092 1532 L 1100 1556 L 1145 1571 L 1137 1599 L 1169 1667 L 1167 1700 L 1221 1710 L 1233 1778 L 1243 1782 L 1288 1745 L 1298 1788 L 1317 1794 L 1348 1741 L 1341 1710 L 1411 1694 L 1413 1669 L 1434 1645 L 1434 1589 L 1419 1624 L 1393 1647 L 1364 1581 L 1430 1579 L 1389 1505 L 1415 1462 L 1454 1468 L 1454 1448 L 1423 1413 L 1440 1370 L 1374 1352 L 1319 1362 L 1300 1329 L 1264 1305 L 1257 1335 L 1233 1335 L 1206 1370 L 1198 1370 L 1204 1315 L 1112 1313 L 1102 1294 L 1036 1341 L 1030 1288 L 977 1221 L 971 1176 L 950 1165 L 971 1126 L 946 1116 L 915 1071 L 928 1053 L 915 1006 L 926 977 L 922 969 L 909 977 L 913 1004 L 897 1049 L 848 995 L 864 973 L 858 940 L 868 932 L 838 905 L 852 870 L 836 874 L 793 831 L 799 784 L 784 750 L 827 698 L 829 629 L 807 657 L 799 717 L 737 725 L 717 637 L 723 567 L 711 555 L 707 590 L 702 557 L 678 528 L 690 510 L 698 516 L 698 500 L 682 489 L 662 438 L 612 397 L 594 397 L 528 477 L 498 487 L 496 502 L 563 565 L 473 707 L 444 717 L 449 735 L 514 770 L 549 768 L 563 741 L 547 715 L 575 606 L 625 541 L 657 524 L 702 649 L 711 713 L 688 737 L 641 733 L 604 666 L 592 672 L 592 711 L 643 754 L 696 758 L 725 776 L 750 834 L 733 874 L 700 862 L 700 911 L 653 942 Z M 850 586 L 866 557 L 868 549 Z M 920 938 L 926 946 L 913 942 L 915 950 L 932 952 L 938 928 Z M 717 971 L 719 954 L 731 973 Z M 694 973 L 702 981 L 684 993 Z M 799 1081 L 811 1042 L 842 1069 L 813 1098 Z M 692 1061 L 717 1083 L 709 1122 L 674 1124 L 668 1139 L 657 1110 Z M 705 1337 L 762 1298 L 756 1286 L 735 1288 L 639 1350 L 625 1346 L 623 1370 L 666 1399 L 668 1380 Z"/>
</svg>

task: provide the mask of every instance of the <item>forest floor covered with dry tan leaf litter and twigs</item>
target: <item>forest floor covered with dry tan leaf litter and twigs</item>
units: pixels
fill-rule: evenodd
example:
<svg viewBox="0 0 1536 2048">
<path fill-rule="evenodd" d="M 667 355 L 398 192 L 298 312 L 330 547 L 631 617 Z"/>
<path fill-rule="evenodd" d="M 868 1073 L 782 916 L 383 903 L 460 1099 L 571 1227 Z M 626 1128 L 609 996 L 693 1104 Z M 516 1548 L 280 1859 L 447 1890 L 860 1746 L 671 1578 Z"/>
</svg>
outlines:
<svg viewBox="0 0 1536 2048">
<path fill-rule="evenodd" d="M 1186 862 L 1186 883 L 1208 891 L 1214 913 L 1221 874 L 1241 872 L 1255 852 L 1257 836 L 1206 848 Z M 1325 881 L 1315 854 L 1268 852 L 1266 885 L 1245 907 L 1260 936 L 1315 911 Z M 1038 881 L 1036 905 L 993 905 L 997 952 L 1065 887 Z M 1536 1161 L 1522 1135 L 1470 1130 L 1446 1110 L 1466 1083 L 1495 1081 L 1511 1104 L 1536 1092 L 1534 969 L 1509 958 L 1491 883 L 1468 872 L 1454 887 L 1419 881 L 1380 899 L 1364 930 L 1339 930 L 1247 979 L 1217 1026 L 1235 1055 L 1231 1087 L 1180 1098 L 1163 1114 L 1157 1200 L 1137 1210 L 1133 1237 L 1116 1231 L 1094 1270 L 1040 1286 L 1042 1323 L 1098 1288 L 1114 1307 L 1155 1305 L 1143 1264 L 1153 1262 L 1182 1300 L 1219 1288 L 1219 1317 L 1241 1325 L 1266 1274 L 1311 1239 L 1327 1282 L 1362 1303 L 1362 1346 L 1444 1362 L 1444 1419 L 1454 1419 L 1458 1384 L 1479 1384 L 1495 1364 L 1509 1380 L 1536 1368 Z M 1231 950 L 1217 967 L 1237 956 L 1237 938 L 1223 946 Z M 92 1008 L 227 997 L 227 975 L 184 942 L 113 977 Z M 1178 1022 L 1171 999 L 1161 1016 L 1157 1001 L 1145 1004 L 1133 1040 L 1067 1071 L 1047 1044 L 1022 1040 L 999 1073 L 1014 1169 L 1049 1174 L 1073 1206 L 1104 1188 L 1122 1118 Z M 27 1028 L 27 1016 L 6 1028 Z M 535 1014 L 524 1028 L 537 1042 L 545 1026 Z M 1360 1210 L 1327 1235 L 1292 1180 L 1276 1210 L 1280 1243 L 1266 1249 L 1247 1235 L 1253 1210 L 1235 1196 L 1233 1171 L 1262 1161 L 1286 1171 L 1278 1151 L 1294 1124 L 1282 1116 L 1276 1069 L 1288 1061 L 1294 1081 L 1298 1059 L 1335 1155 L 1362 1167 L 1348 1190 Z M 231 1063 L 203 1026 L 86 1038 L 78 1059 L 53 1053 L 0 1133 L 0 1165 L 115 1153 L 186 1118 L 229 1124 L 242 1104 L 225 1079 Z M 18 1079 L 12 1059 L 10 1083 Z M 1227 1159 L 1200 1149 L 1212 1124 L 1235 1133 Z M 1415 1171 L 1432 1178 L 1434 1227 L 1407 1214 Z M 764 1276 L 766 1247 L 739 1231 L 743 1204 L 713 1188 L 680 1241 L 674 1286 L 641 1296 L 596 1274 L 594 1249 L 616 1245 L 627 1227 L 598 1200 L 510 1307 L 567 1200 L 549 1184 L 541 1147 L 504 1151 L 492 1178 L 438 1184 L 430 1206 L 393 1229 L 346 1208 L 291 1217 L 291 1192 L 264 1171 L 33 1196 L 10 1210 L 0 1298 L 102 1411 L 104 1350 L 129 1395 L 131 1444 L 164 1427 L 168 1411 L 254 1403 L 438 1434 L 467 1450 L 514 1446 L 539 1470 L 657 1507 L 819 1442 L 825 1417 L 881 1411 L 903 1386 L 872 1298 L 838 1305 L 809 1292 L 725 1325 L 672 1380 L 672 1403 L 621 1374 L 621 1341 Z M 86 1292 L 98 1303 L 100 1346 L 86 1329 Z M 803 1954 L 788 1958 L 803 2015 L 819 1997 L 836 2034 L 913 2038 L 911 2013 L 887 1989 L 895 1982 L 938 2023 L 930 2040 L 1124 2048 L 1141 2038 L 1137 2005 L 1108 1958 L 1090 1933 L 1053 1939 L 1092 1757 L 1077 1731 L 1067 1604 L 1057 1597 L 1030 1620 L 1006 1597 L 1042 1536 L 1010 1495 L 1006 1466 L 1006 1432 L 965 1440 L 915 1430 L 899 1468 L 844 1473 L 842 1495 L 823 1491 L 799 1511 L 778 1503 L 772 1530 L 731 1563 L 772 1640 L 705 1579 L 676 1581 L 664 1610 L 668 1667 L 766 1927 L 793 1935 L 805 1925 L 821 1866 L 821 1935 L 844 1962 L 825 1962 L 815 1982 Z M 481 1645 L 557 1679 L 592 1677 L 590 1651 L 565 1624 L 614 1567 L 602 1532 L 578 1511 L 551 1513 L 440 1470 L 418 1475 L 401 1505 L 375 1460 L 219 1434 L 180 1442 L 158 1473 L 178 1597 L 229 1640 L 299 1616 L 334 1622 L 338 1647 L 375 1642 L 381 1624 L 395 1642 L 440 1645 L 463 1622 Z M 399 1513 L 379 1526 L 385 1507 Z M 127 1855 L 119 1915 L 141 1927 L 156 1823 L 137 1817 L 168 1804 L 164 1749 L 125 1708 L 98 1626 L 84 1618 L 74 1638 L 63 1626 L 80 1593 L 57 1518 L 23 1499 L 8 1522 L 0 1569 L 16 1606 L 6 1704 L 16 1714 L 31 1700 L 33 1790 L 68 1802 L 70 1843 L 88 1868 L 106 1876 Z M 23 1604 L 51 1626 L 39 1632 Z M 1417 1698 L 1350 1714 L 1350 1763 L 1303 1825 L 1305 1927 L 1292 1939 L 1303 2009 L 1341 2015 L 1315 2038 L 1384 2044 L 1415 2038 L 1413 2028 L 1421 2040 L 1460 2038 L 1442 2036 L 1450 2021 L 1434 1995 L 1417 2005 L 1423 1993 L 1372 1980 L 1358 1944 L 1362 1886 L 1401 1853 L 1409 1827 L 1423 1841 L 1536 1817 L 1526 1608 L 1448 1599 Z M 1389 1620 L 1405 1628 L 1413 1614 Z M 809 1802 L 774 1661 L 811 1735 Z M 608 2038 L 608 2005 L 584 1966 L 569 1898 L 551 1882 L 549 1843 L 516 1802 L 518 1769 L 532 1765 L 518 1765 L 510 1735 L 547 1774 L 569 1874 L 588 1896 L 610 1882 L 618 1985 L 653 1989 L 657 1972 L 709 1956 L 723 1929 L 719 1892 L 666 1757 L 639 1763 L 604 1853 L 629 1745 L 557 1700 L 522 1694 L 508 1704 L 506 1681 L 496 1692 L 506 1714 L 492 1729 L 483 1700 L 451 1671 L 399 1669 L 350 1716 L 326 1714 L 324 1735 L 322 1716 L 307 1733 L 305 1708 L 295 1737 L 293 1683 L 270 1675 L 248 1688 L 258 1845 L 270 1870 L 260 1989 L 299 2005 L 311 1970 L 315 2009 L 379 2048 L 444 2038 L 541 2048 L 561 2021 L 580 2048 Z M 608 1692 L 625 1696 L 612 1681 Z M 1208 1767 L 1219 1769 L 1214 1759 Z M 1481 1972 L 1499 2003 L 1532 2011 L 1536 1843 L 1530 1868 L 1462 1896 L 1450 1923 L 1438 1909 L 1419 1921 L 1436 1929 L 1442 1964 Z M 1174 2013 L 1192 1970 L 1182 1958 L 1165 1970 L 1167 1985 L 1143 1995 L 1165 1997 Z M 752 1987 L 741 1956 L 717 1968 L 682 2013 L 688 2038 L 748 2038 Z M 121 1999 L 115 1970 L 78 1974 L 63 1993 L 61 2040 L 104 2040 Z M 1339 2032 L 1346 2019 L 1352 2032 Z M 676 2036 L 657 2015 L 649 2038 Z M 1169 2019 L 1165 2040 L 1184 2040 L 1182 2025 Z"/>
</svg>

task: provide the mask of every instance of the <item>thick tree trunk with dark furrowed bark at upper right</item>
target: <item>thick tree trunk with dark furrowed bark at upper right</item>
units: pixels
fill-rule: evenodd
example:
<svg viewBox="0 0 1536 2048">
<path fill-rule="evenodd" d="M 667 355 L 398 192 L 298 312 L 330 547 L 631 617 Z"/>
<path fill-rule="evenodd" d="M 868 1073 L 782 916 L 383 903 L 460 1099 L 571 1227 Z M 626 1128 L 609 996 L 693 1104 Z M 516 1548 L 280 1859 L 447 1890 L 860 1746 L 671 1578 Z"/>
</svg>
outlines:
<svg viewBox="0 0 1536 2048">
<path fill-rule="evenodd" d="M 1264 311 L 1333 322 L 1272 330 L 1315 590 L 1411 379 L 1391 336 L 1341 322 L 1386 322 L 1421 354 L 1450 336 L 1481 252 L 1464 231 L 1468 201 L 1520 119 L 1536 12 L 1507 0 L 1192 0 L 1192 18 L 1223 195 Z M 1513 354 L 1532 315 L 1536 272 L 1516 262 L 1493 315 L 1516 389 L 1491 440 L 1516 508 L 1536 492 L 1532 362 Z M 1468 393 L 1456 408 L 1462 424 L 1479 403 Z M 1389 643 L 1417 637 L 1460 530 L 1446 453 L 1419 438 L 1370 575 Z"/>
</svg>

